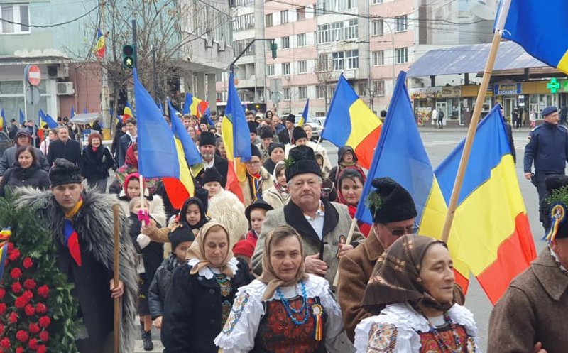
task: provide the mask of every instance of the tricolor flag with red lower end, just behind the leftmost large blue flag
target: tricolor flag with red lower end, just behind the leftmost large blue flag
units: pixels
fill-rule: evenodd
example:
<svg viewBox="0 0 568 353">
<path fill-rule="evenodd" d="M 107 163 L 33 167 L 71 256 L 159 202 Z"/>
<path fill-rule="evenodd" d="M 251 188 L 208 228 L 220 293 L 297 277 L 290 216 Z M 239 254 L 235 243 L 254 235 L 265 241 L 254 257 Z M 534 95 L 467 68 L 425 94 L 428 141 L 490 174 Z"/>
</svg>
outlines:
<svg viewBox="0 0 568 353">
<path fill-rule="evenodd" d="M 175 140 L 175 149 L 178 152 L 178 163 L 180 165 L 179 178 L 163 178 L 165 192 L 172 206 L 176 210 L 182 208 L 183 202 L 195 194 L 195 184 L 190 173 L 189 166 L 195 163 L 201 163 L 202 159 L 197 151 L 195 143 L 190 138 L 190 134 L 184 129 L 182 122 L 175 115 L 175 109 L 172 107 L 170 99 L 168 99 L 170 107 L 170 120 L 172 121 L 172 132 Z M 157 106 L 156 106 L 157 107 Z M 159 109 L 159 108 L 158 108 Z"/>
</svg>

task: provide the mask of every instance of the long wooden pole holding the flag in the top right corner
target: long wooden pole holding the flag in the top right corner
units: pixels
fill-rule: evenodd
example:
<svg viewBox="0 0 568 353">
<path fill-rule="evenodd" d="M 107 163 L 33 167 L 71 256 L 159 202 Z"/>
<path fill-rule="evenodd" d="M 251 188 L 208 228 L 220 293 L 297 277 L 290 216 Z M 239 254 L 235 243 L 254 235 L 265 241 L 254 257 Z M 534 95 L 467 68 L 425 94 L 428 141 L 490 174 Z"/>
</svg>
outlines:
<svg viewBox="0 0 568 353">
<path fill-rule="evenodd" d="M 477 124 L 479 123 L 479 118 L 481 116 L 481 108 L 483 107 L 485 102 L 485 94 L 487 92 L 487 87 L 489 86 L 489 80 L 491 79 L 493 66 L 495 65 L 499 43 L 501 42 L 501 33 L 503 32 L 503 28 L 505 27 L 505 21 L 507 19 L 509 7 L 510 0 L 503 0 L 503 2 L 501 3 L 501 11 L 497 19 L 495 34 L 493 35 L 493 42 L 491 42 L 491 49 L 489 50 L 489 57 L 487 58 L 487 63 L 485 65 L 484 77 L 483 80 L 481 80 L 481 86 L 479 87 L 479 92 L 477 93 L 474 114 L 471 118 L 471 123 L 469 124 L 469 129 L 467 131 L 464 152 L 463 154 L 461 154 L 461 159 L 459 161 L 459 168 L 457 169 L 454 189 L 452 190 L 452 197 L 449 199 L 448 212 L 446 214 L 446 220 L 444 222 L 444 229 L 442 230 L 442 241 L 445 242 L 447 242 L 449 239 L 449 231 L 452 229 L 452 222 L 454 222 L 454 214 L 456 213 L 459 192 L 461 191 L 461 185 L 464 183 L 464 175 L 466 172 L 467 163 L 469 161 L 469 155 L 471 154 L 471 146 L 473 146 L 474 144 Z"/>
</svg>

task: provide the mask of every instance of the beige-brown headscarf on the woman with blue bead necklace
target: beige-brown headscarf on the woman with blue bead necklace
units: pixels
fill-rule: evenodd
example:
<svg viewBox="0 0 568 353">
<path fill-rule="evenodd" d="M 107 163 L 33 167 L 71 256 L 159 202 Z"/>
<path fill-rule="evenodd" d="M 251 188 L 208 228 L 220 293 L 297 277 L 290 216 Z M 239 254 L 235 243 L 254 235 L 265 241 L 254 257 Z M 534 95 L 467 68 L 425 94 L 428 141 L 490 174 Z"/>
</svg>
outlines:
<svg viewBox="0 0 568 353">
<path fill-rule="evenodd" d="M 295 278 L 290 281 L 283 281 L 276 275 L 274 268 L 272 268 L 271 264 L 271 246 L 273 244 L 273 237 L 275 234 L 287 234 L 287 236 L 296 237 L 298 241 L 300 241 L 300 257 L 302 259 L 302 263 L 300 264 L 300 268 L 298 268 Z M 280 238 L 282 239 L 282 238 Z M 305 263 L 304 263 L 304 246 L 302 244 L 302 238 L 300 234 L 297 234 L 293 227 L 288 225 L 283 225 L 280 227 L 276 227 L 273 229 L 268 235 L 266 239 L 264 239 L 264 252 L 262 256 L 262 275 L 258 277 L 258 281 L 262 283 L 266 283 L 267 287 L 264 290 L 264 294 L 262 296 L 262 300 L 268 300 L 272 298 L 274 295 L 274 291 L 276 288 L 284 286 L 295 286 L 296 283 L 301 281 L 302 279 L 307 279 L 307 275 L 305 274 Z"/>
</svg>

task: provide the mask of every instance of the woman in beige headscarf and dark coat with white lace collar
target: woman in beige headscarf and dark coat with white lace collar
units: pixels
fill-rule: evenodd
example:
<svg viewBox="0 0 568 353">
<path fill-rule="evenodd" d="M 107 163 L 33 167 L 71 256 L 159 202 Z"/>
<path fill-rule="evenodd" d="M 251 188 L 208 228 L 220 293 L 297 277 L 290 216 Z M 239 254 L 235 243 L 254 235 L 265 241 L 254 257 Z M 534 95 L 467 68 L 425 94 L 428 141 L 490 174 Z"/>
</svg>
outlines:
<svg viewBox="0 0 568 353">
<path fill-rule="evenodd" d="M 165 353 L 217 353 L 236 290 L 251 281 L 248 265 L 231 252 L 229 232 L 218 222 L 205 224 L 187 264 L 173 271 L 162 322 Z"/>
</svg>

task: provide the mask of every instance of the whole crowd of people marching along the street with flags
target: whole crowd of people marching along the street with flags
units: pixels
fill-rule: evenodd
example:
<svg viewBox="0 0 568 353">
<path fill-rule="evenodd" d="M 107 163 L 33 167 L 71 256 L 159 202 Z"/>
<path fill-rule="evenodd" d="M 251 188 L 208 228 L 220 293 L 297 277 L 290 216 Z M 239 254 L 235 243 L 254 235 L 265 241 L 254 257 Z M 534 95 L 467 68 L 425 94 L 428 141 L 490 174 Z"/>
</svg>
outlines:
<svg viewBox="0 0 568 353">
<path fill-rule="evenodd" d="M 395 180 L 375 178 L 363 195 L 366 171 L 353 148 L 340 147 L 332 166 L 310 125 L 295 126 L 293 114 L 282 124 L 275 112 L 249 112 L 251 158 L 239 199 L 225 190 L 232 165 L 220 121 L 173 119 L 181 119 L 203 159 L 195 195 L 180 210 L 162 180 L 138 174 L 134 118 L 117 127 L 111 151 L 98 133 L 81 148 L 62 125 L 40 148 L 26 129 L 16 131 L 0 160 L 0 195 L 15 192 L 18 207 L 48 205 L 36 212 L 54 234 L 60 270 L 75 283 L 80 352 L 111 352 L 115 297 L 123 297 L 122 352 L 131 352 L 135 314 L 143 348 L 153 349 L 156 327 L 166 353 L 479 352 L 447 245 L 416 235 L 413 195 Z M 564 200 L 562 187 L 550 194 Z M 351 227 L 362 197 L 373 223 Z M 112 284 L 109 240 L 116 203 L 119 286 Z M 567 212 L 562 202 L 550 207 Z M 565 306 L 562 224 L 493 310 L 488 352 L 561 352 L 556 347 L 567 343 L 562 320 L 542 330 L 547 310 Z M 75 253 L 60 239 L 69 227 L 80 237 Z M 525 320 L 516 320 L 527 308 Z M 515 339 L 510 330 L 518 331 Z"/>
</svg>

